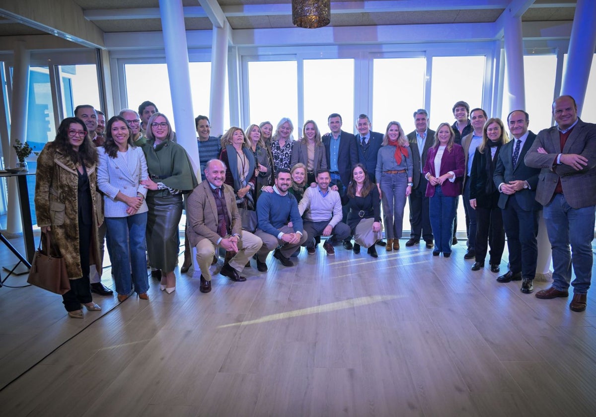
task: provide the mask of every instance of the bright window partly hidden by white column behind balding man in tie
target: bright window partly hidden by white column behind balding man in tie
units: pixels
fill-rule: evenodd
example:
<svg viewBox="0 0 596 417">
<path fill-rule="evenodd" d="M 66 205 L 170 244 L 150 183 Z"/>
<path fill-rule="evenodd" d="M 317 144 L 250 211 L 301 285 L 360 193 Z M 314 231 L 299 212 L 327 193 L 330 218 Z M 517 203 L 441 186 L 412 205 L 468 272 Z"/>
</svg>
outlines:
<svg viewBox="0 0 596 417">
<path fill-rule="evenodd" d="M 529 129 L 538 133 L 552 126 L 551 103 L 557 75 L 557 55 L 524 55 L 523 69 L 526 92 L 526 108 L 523 110 L 530 115 Z M 511 110 L 516 109 L 509 106 L 509 83 L 505 76 L 501 113 L 505 125 Z"/>
</svg>

